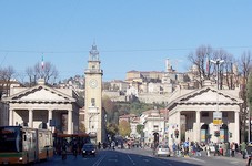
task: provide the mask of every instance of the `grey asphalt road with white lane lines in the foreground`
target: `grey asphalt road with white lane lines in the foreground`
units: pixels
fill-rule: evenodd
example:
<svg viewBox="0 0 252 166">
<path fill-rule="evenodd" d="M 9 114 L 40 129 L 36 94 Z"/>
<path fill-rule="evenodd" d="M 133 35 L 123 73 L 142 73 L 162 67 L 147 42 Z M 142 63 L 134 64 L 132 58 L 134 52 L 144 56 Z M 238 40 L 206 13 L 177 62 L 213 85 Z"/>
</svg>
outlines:
<svg viewBox="0 0 252 166">
<path fill-rule="evenodd" d="M 48 162 L 37 163 L 38 166 L 245 166 L 245 160 L 230 157 L 155 157 L 151 151 L 134 149 L 105 149 L 98 152 L 97 156 L 74 158 L 68 155 L 67 160 L 54 156 Z"/>
</svg>

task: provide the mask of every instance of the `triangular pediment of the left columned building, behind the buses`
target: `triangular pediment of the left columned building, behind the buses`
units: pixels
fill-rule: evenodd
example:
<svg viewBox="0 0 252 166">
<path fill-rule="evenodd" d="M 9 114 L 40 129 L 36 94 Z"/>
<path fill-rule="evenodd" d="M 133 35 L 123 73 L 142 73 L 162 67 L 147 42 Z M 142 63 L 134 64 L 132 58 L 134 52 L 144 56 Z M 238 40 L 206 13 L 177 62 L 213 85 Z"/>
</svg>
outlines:
<svg viewBox="0 0 252 166">
<path fill-rule="evenodd" d="M 13 94 L 6 101 L 72 102 L 74 101 L 74 98 L 47 85 L 37 85 L 34 87 L 24 90 L 18 94 Z"/>
</svg>

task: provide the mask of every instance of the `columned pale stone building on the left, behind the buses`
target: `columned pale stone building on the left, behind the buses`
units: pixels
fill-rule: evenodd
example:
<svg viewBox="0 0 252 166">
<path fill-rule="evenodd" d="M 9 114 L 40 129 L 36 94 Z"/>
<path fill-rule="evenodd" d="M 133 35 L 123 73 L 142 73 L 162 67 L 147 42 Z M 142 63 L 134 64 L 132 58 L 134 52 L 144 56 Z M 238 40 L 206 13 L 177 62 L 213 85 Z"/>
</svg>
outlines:
<svg viewBox="0 0 252 166">
<path fill-rule="evenodd" d="M 53 89 L 41 79 L 33 87 L 13 87 L 9 104 L 9 125 L 48 128 L 58 133 L 79 132 L 82 103 L 72 90 Z"/>
</svg>

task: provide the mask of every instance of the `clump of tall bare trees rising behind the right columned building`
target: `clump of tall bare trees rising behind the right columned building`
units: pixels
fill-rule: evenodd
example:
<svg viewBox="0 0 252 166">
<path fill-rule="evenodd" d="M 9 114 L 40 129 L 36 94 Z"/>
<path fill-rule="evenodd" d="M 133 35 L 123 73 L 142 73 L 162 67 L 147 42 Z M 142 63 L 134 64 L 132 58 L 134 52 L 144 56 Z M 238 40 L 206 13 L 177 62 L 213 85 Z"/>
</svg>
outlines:
<svg viewBox="0 0 252 166">
<path fill-rule="evenodd" d="M 223 49 L 213 50 L 210 45 L 202 45 L 196 49 L 195 53 L 188 55 L 189 61 L 195 66 L 194 81 L 199 86 L 203 86 L 204 80 L 215 80 L 219 74 L 220 89 L 225 84 L 228 89 L 234 89 L 235 77 L 233 73 L 234 58 Z M 210 60 L 224 60 L 218 71 L 216 65 L 210 63 Z M 218 73 L 219 72 L 219 73 Z"/>
</svg>

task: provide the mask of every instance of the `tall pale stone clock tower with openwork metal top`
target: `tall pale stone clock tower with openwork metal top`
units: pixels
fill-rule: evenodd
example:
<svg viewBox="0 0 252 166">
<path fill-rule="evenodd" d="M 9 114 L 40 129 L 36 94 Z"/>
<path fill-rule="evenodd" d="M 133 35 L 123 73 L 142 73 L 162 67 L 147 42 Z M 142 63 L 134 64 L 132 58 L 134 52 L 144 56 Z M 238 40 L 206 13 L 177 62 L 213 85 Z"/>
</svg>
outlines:
<svg viewBox="0 0 252 166">
<path fill-rule="evenodd" d="M 84 102 L 84 124 L 85 132 L 90 134 L 95 143 L 104 142 L 104 115 L 102 112 L 102 75 L 100 69 L 99 51 L 93 44 L 89 52 L 88 69 L 85 75 L 85 102 Z"/>
</svg>

